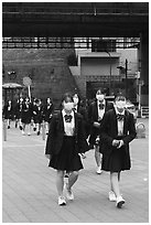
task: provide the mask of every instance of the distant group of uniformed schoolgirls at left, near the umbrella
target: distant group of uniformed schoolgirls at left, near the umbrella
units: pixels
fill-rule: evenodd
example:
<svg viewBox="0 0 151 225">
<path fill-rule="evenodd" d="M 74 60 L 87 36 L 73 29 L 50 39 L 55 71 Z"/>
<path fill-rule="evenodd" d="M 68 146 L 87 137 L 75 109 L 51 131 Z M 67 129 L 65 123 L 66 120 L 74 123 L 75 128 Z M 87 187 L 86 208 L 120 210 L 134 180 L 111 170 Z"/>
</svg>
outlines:
<svg viewBox="0 0 151 225">
<path fill-rule="evenodd" d="M 31 128 L 41 133 L 42 122 L 45 122 L 45 130 L 48 132 L 50 121 L 53 115 L 54 106 L 51 98 L 46 98 L 45 103 L 34 98 L 19 98 L 15 103 L 8 100 L 3 106 L 3 118 L 7 120 L 8 129 L 11 127 L 11 121 L 15 121 L 15 128 L 20 128 L 22 135 L 31 136 Z"/>
</svg>

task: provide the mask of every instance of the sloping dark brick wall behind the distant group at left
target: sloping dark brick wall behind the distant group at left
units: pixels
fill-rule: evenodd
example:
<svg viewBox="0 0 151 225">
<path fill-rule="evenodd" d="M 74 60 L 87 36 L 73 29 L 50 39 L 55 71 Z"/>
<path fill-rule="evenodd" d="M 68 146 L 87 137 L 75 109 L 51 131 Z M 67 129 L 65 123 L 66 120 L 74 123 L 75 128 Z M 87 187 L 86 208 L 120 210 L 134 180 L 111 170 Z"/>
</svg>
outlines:
<svg viewBox="0 0 151 225">
<path fill-rule="evenodd" d="M 61 96 L 66 92 L 77 90 L 77 84 L 68 65 L 67 56 L 73 50 L 3 50 L 3 83 L 14 82 L 23 85 L 23 77 L 32 79 L 32 97 L 51 97 L 56 107 Z M 15 71 L 17 77 L 11 79 L 9 71 Z M 23 88 L 23 95 L 28 89 Z"/>
</svg>

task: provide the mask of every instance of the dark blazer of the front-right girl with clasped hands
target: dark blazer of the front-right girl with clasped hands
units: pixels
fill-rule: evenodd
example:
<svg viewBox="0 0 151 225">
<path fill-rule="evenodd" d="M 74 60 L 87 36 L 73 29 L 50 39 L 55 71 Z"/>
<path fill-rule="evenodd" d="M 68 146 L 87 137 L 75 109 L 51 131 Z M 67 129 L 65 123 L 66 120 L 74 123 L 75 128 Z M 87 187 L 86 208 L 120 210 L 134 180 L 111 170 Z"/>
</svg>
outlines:
<svg viewBox="0 0 151 225">
<path fill-rule="evenodd" d="M 133 120 L 133 115 L 128 110 L 125 111 L 123 119 L 123 136 L 121 140 L 123 140 L 123 146 L 121 147 L 126 153 L 129 156 L 129 142 L 136 138 L 136 126 Z M 110 109 L 104 115 L 101 126 L 100 126 L 100 137 L 103 141 L 101 152 L 103 154 L 110 154 L 115 149 L 112 147 L 112 140 L 118 137 L 118 121 L 116 116 L 116 110 Z"/>
</svg>

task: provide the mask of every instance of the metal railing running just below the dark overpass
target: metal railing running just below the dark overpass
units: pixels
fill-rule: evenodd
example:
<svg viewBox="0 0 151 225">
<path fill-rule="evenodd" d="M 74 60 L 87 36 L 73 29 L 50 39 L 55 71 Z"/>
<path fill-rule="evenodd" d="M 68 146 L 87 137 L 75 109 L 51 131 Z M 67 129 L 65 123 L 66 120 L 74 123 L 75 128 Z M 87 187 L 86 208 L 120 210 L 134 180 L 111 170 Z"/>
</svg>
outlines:
<svg viewBox="0 0 151 225">
<path fill-rule="evenodd" d="M 138 47 L 140 40 L 120 41 L 117 39 L 116 49 Z M 3 49 L 91 49 L 90 38 L 3 38 Z M 105 50 L 103 50 L 104 52 Z"/>
</svg>

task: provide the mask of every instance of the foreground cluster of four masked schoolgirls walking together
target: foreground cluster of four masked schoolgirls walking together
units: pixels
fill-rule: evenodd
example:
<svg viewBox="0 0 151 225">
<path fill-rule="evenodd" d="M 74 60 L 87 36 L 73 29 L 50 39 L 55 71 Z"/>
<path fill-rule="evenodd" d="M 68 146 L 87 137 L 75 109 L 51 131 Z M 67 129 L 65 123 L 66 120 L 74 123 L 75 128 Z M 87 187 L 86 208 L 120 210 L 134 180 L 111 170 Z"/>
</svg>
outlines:
<svg viewBox="0 0 151 225">
<path fill-rule="evenodd" d="M 66 93 L 61 110 L 52 116 L 45 156 L 48 167 L 56 170 L 58 205 L 66 205 L 66 199 L 74 200 L 73 186 L 84 168 L 82 156 L 90 149 L 95 150 L 96 172 L 110 172 L 109 201 L 116 202 L 118 208 L 125 204 L 120 173 L 131 168 L 129 142 L 136 138 L 136 125 L 123 95 L 118 95 L 115 103 L 108 103 L 105 96 L 98 89 L 95 100 L 85 107 L 78 94 Z M 66 173 L 68 182 L 64 185 Z"/>
</svg>

